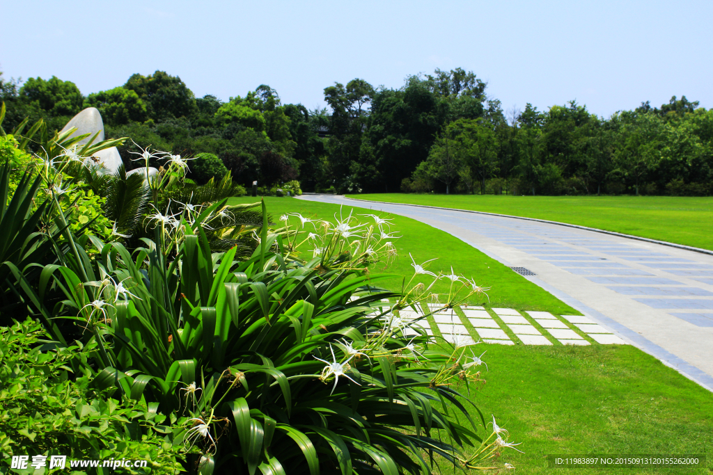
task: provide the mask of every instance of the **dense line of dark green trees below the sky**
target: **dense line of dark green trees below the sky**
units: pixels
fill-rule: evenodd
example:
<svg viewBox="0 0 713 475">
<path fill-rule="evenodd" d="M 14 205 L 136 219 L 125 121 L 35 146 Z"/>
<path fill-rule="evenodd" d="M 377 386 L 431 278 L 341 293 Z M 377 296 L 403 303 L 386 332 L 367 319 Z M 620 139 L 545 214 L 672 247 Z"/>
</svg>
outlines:
<svg viewBox="0 0 713 475">
<path fill-rule="evenodd" d="M 461 68 L 411 75 L 398 89 L 357 78 L 324 88 L 328 108 L 308 110 L 269 85 L 225 103 L 195 98 L 163 71 L 87 96 L 54 76 L 0 73 L 6 130 L 25 117 L 59 129 L 96 107 L 107 137 L 133 139 L 120 149 L 127 169 L 138 145 L 152 145 L 215 154 L 242 184 L 299 179 L 318 192 L 713 194 L 713 110 L 685 96 L 608 119 L 575 100 L 506 117 L 486 87 Z"/>
</svg>

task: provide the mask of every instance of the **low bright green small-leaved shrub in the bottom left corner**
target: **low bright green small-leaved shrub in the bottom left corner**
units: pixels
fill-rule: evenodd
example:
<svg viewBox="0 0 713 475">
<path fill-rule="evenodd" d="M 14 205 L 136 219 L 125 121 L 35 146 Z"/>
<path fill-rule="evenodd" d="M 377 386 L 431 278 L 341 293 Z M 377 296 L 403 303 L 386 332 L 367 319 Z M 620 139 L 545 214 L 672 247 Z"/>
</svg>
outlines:
<svg viewBox="0 0 713 475">
<path fill-rule="evenodd" d="M 71 380 L 72 360 L 86 361 L 94 348 L 53 348 L 43 338 L 41 324 L 30 319 L 0 328 L 0 456 L 4 461 L 16 455 L 28 455 L 30 460 L 35 455 L 64 455 L 67 460 L 125 458 L 148 461 L 141 469 L 123 467 L 125 473 L 182 470 L 177 456 L 183 447 L 173 442 L 175 417 L 160 414 L 158 404 L 145 400 L 118 401 L 100 394 L 85 375 Z M 6 472 L 7 467 L 0 467 L 0 473 L 24 473 Z"/>
</svg>

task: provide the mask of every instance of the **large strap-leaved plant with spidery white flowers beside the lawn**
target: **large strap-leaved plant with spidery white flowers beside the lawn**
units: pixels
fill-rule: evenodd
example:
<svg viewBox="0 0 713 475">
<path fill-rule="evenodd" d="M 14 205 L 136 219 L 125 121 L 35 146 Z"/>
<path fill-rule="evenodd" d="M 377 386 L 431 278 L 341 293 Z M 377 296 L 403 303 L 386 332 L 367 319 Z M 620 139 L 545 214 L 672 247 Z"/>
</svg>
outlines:
<svg viewBox="0 0 713 475">
<path fill-rule="evenodd" d="M 303 261 L 284 242 L 297 233 L 271 233 L 262 204 L 260 245 L 236 259 L 235 247 L 213 253 L 202 229 L 220 207 L 182 216 L 175 256 L 160 220 L 133 253 L 91 236 L 101 257 L 81 263 L 88 278 L 76 266 L 48 266 L 30 298 L 48 321 L 72 318 L 89 330 L 96 357 L 84 371 L 96 372 L 99 387 L 175 415 L 189 471 L 431 473 L 438 460 L 474 467 L 503 447 L 495 432 L 478 435 L 471 414 L 485 420 L 451 387 L 478 380 L 466 348 L 426 348 L 431 337 L 418 323 L 428 289 L 396 295 L 376 287 L 390 276 L 366 273 L 393 252 L 373 226 L 351 215 L 323 222 L 320 253 Z M 448 306 L 458 302 L 456 280 Z M 52 286 L 64 300 L 49 309 L 42 296 Z"/>
</svg>

